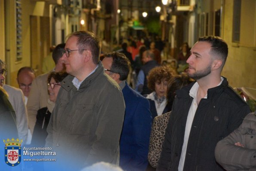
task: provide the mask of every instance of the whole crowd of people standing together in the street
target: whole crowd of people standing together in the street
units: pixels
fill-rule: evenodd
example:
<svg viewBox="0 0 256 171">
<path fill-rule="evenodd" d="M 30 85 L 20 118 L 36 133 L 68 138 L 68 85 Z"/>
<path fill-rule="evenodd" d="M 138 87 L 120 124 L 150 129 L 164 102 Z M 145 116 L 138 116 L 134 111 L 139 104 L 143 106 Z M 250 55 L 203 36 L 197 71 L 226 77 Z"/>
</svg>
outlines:
<svg viewBox="0 0 256 171">
<path fill-rule="evenodd" d="M 94 34 L 74 32 L 52 49 L 49 72 L 19 70 L 20 89 L 4 84 L 0 60 L 0 127 L 51 147 L 57 161 L 45 171 L 256 169 L 256 113 L 221 76 L 225 41 L 184 43 L 169 63 L 157 46 L 131 40 L 105 53 Z"/>
</svg>

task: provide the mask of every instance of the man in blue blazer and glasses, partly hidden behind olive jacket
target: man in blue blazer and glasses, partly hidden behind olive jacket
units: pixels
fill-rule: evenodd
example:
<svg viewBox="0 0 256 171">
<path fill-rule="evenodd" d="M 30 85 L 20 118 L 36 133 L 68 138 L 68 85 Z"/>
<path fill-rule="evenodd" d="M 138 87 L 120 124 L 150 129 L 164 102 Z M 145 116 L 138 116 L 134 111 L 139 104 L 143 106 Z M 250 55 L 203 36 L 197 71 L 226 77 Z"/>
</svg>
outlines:
<svg viewBox="0 0 256 171">
<path fill-rule="evenodd" d="M 152 122 L 148 99 L 127 84 L 130 61 L 123 53 L 104 55 L 102 64 L 105 72 L 120 85 L 126 106 L 120 137 L 120 167 L 125 171 L 143 171 L 148 166 Z"/>
</svg>

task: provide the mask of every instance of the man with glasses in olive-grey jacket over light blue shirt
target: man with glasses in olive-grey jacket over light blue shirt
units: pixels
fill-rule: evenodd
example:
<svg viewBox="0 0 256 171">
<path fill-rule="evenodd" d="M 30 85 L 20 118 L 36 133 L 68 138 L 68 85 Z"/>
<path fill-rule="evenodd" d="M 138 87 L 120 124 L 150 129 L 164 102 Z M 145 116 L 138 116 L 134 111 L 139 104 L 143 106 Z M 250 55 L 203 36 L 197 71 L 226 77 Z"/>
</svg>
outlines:
<svg viewBox="0 0 256 171">
<path fill-rule="evenodd" d="M 119 162 L 123 94 L 105 74 L 99 55 L 100 42 L 92 33 L 69 35 L 61 59 L 70 75 L 61 82 L 46 138 L 46 147 L 58 154 L 54 165 L 64 170 Z"/>
</svg>

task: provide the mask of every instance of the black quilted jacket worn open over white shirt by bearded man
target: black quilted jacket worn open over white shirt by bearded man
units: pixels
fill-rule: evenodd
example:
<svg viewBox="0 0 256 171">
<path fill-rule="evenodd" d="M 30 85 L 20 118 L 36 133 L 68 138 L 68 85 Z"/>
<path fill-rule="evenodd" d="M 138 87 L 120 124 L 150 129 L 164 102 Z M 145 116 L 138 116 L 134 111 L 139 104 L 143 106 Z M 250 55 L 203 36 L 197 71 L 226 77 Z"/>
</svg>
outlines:
<svg viewBox="0 0 256 171">
<path fill-rule="evenodd" d="M 208 89 L 207 99 L 201 99 L 198 104 L 188 137 L 184 171 L 222 171 L 223 168 L 215 160 L 215 146 L 250 113 L 246 102 L 228 86 L 227 79 L 223 78 L 222 84 Z M 158 171 L 178 170 L 188 111 L 193 101 L 189 91 L 194 83 L 176 91 Z"/>
</svg>

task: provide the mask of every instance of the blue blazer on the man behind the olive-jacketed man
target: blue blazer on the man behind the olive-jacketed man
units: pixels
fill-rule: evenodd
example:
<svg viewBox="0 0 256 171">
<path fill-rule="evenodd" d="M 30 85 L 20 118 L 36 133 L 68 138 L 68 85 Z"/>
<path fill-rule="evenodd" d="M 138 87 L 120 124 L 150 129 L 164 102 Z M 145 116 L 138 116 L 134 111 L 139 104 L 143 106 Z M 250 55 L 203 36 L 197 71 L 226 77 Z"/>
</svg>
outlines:
<svg viewBox="0 0 256 171">
<path fill-rule="evenodd" d="M 120 137 L 120 167 L 125 171 L 145 171 L 152 122 L 149 103 L 127 83 L 122 92 L 126 108 Z"/>
</svg>

